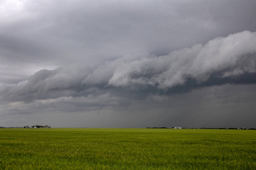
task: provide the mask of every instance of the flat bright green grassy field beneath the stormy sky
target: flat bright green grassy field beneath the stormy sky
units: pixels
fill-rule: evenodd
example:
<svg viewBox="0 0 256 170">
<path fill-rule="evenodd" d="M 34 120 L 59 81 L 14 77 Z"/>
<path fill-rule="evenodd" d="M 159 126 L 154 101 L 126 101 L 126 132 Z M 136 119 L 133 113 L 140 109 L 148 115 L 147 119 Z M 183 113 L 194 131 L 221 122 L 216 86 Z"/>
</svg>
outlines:
<svg viewBox="0 0 256 170">
<path fill-rule="evenodd" d="M 0 169 L 256 169 L 256 130 L 0 129 Z"/>
</svg>

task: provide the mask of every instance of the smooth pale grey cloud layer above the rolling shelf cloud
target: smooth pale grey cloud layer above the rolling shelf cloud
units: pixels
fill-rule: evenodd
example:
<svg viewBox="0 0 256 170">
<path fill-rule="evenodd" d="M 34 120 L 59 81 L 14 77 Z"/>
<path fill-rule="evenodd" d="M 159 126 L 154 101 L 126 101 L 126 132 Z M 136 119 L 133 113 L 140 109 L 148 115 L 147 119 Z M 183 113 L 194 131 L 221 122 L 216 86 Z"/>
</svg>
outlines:
<svg viewBox="0 0 256 170">
<path fill-rule="evenodd" d="M 59 66 L 138 52 L 159 56 L 256 31 L 254 7 L 254 1 L 2 1 L 1 57 Z"/>
</svg>

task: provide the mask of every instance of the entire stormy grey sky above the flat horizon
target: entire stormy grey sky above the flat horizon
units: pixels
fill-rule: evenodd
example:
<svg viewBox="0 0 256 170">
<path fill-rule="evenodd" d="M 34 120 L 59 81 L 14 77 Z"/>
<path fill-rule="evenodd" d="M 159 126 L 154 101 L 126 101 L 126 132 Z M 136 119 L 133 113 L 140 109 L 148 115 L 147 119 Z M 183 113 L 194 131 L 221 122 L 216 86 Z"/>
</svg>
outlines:
<svg viewBox="0 0 256 170">
<path fill-rule="evenodd" d="M 0 0 L 0 126 L 256 128 L 255 8 Z"/>
</svg>

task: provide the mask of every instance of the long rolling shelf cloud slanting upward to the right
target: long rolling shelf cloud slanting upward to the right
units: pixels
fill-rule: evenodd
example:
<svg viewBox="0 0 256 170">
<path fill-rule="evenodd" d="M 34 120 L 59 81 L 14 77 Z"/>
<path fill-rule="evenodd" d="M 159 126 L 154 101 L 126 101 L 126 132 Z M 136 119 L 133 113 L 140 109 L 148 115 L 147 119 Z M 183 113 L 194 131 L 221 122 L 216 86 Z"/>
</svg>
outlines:
<svg viewBox="0 0 256 170">
<path fill-rule="evenodd" d="M 2 87 L 1 100 L 27 102 L 106 93 L 136 98 L 226 83 L 256 83 L 255 46 L 256 32 L 243 31 L 166 56 L 129 54 L 97 67 L 40 70 L 26 81 Z"/>
</svg>

